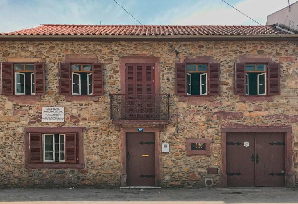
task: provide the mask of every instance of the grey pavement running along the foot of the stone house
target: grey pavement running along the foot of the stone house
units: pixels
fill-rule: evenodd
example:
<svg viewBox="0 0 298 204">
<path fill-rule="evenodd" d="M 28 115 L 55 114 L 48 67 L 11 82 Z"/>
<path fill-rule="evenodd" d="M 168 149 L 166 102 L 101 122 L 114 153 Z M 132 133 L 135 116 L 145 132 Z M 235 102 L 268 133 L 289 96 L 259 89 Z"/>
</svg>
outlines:
<svg viewBox="0 0 298 204">
<path fill-rule="evenodd" d="M 0 204 L 224 204 L 297 203 L 298 189 L 0 189 Z"/>
</svg>

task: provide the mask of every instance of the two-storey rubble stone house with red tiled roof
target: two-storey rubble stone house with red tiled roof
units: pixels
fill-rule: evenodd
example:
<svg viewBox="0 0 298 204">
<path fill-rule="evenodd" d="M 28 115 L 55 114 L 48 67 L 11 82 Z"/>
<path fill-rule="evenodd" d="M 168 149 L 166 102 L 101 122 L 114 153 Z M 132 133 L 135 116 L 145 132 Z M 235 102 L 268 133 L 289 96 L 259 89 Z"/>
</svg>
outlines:
<svg viewBox="0 0 298 204">
<path fill-rule="evenodd" d="M 297 40 L 273 26 L 1 33 L 0 186 L 298 186 Z"/>
</svg>

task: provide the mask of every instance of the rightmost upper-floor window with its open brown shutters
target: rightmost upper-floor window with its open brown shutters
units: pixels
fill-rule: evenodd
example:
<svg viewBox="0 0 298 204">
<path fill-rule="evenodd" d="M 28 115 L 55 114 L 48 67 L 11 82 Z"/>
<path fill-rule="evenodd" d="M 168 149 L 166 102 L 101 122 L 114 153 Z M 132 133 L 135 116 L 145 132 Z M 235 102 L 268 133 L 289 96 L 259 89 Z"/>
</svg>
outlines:
<svg viewBox="0 0 298 204">
<path fill-rule="evenodd" d="M 236 63 L 235 94 L 265 96 L 280 94 L 279 63 Z"/>
</svg>

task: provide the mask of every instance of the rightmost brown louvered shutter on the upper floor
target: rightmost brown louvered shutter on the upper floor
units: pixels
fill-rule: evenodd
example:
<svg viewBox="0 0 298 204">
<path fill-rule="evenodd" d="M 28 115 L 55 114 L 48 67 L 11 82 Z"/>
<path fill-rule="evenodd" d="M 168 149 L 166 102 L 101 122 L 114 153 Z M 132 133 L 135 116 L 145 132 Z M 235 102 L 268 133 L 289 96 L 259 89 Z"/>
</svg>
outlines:
<svg viewBox="0 0 298 204">
<path fill-rule="evenodd" d="M 280 95 L 280 63 L 268 63 L 268 95 Z"/>
</svg>

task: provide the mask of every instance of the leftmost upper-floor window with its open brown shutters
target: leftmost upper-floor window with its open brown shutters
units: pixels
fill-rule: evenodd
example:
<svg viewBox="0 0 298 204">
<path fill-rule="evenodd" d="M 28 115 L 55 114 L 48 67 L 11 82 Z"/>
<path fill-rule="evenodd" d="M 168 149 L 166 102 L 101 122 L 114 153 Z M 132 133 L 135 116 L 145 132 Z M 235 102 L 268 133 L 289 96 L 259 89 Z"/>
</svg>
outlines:
<svg viewBox="0 0 298 204">
<path fill-rule="evenodd" d="M 1 63 L 1 93 L 44 95 L 44 63 Z"/>
</svg>

